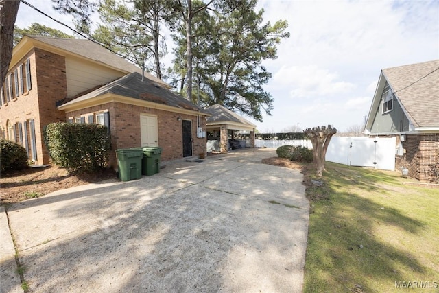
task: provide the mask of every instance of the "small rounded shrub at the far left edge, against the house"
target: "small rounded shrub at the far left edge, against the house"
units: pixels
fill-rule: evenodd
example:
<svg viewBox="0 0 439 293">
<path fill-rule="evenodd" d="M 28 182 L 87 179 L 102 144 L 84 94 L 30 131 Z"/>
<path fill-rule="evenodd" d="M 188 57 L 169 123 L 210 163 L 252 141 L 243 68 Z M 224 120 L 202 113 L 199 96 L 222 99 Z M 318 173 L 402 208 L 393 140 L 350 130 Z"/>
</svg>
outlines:
<svg viewBox="0 0 439 293">
<path fill-rule="evenodd" d="M 23 169 L 27 167 L 27 152 L 18 143 L 0 139 L 0 165 L 1 171 L 6 169 Z"/>
</svg>

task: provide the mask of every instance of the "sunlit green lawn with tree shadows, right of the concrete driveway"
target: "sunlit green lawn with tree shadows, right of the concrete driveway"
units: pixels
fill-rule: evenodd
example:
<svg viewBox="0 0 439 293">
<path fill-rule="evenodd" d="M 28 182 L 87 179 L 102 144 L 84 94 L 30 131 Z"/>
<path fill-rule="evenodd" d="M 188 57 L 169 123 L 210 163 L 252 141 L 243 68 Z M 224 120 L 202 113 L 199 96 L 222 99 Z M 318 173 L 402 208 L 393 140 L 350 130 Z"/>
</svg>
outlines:
<svg viewBox="0 0 439 293">
<path fill-rule="evenodd" d="M 439 189 L 405 185 L 413 180 L 398 172 L 326 167 L 324 185 L 307 189 L 304 292 L 439 292 Z"/>
</svg>

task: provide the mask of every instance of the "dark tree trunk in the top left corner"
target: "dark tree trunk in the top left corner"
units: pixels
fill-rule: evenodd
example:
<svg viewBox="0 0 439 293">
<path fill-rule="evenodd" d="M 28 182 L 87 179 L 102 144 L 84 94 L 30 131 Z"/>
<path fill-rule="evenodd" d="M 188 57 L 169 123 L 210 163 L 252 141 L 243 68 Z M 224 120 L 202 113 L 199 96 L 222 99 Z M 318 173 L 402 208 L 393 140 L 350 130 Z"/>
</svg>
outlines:
<svg viewBox="0 0 439 293">
<path fill-rule="evenodd" d="M 0 0 L 0 84 L 5 81 L 14 49 L 14 23 L 20 1 Z"/>
</svg>

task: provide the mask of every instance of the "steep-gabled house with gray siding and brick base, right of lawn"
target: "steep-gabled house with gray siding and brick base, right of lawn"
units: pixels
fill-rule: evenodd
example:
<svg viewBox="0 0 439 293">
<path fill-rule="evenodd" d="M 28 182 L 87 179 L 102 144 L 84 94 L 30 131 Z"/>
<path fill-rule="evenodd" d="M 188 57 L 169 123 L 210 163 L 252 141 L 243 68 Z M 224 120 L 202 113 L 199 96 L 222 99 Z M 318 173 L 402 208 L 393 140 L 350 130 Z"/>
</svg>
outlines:
<svg viewBox="0 0 439 293">
<path fill-rule="evenodd" d="M 366 121 L 372 137 L 396 137 L 396 169 L 437 182 L 439 60 L 382 69 Z"/>
</svg>

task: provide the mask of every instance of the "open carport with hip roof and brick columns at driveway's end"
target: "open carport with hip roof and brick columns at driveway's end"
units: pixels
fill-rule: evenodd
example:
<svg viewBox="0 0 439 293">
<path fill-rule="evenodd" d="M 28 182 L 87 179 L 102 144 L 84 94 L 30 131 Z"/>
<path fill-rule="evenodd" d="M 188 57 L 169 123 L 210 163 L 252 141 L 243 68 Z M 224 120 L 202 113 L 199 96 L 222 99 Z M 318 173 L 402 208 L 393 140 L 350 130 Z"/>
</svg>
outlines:
<svg viewBox="0 0 439 293">
<path fill-rule="evenodd" d="M 228 152 L 228 138 L 235 139 L 235 131 L 250 132 L 250 148 L 254 148 L 256 125 L 231 110 L 215 104 L 206 108 L 211 117 L 206 119 L 207 152 Z"/>
</svg>

